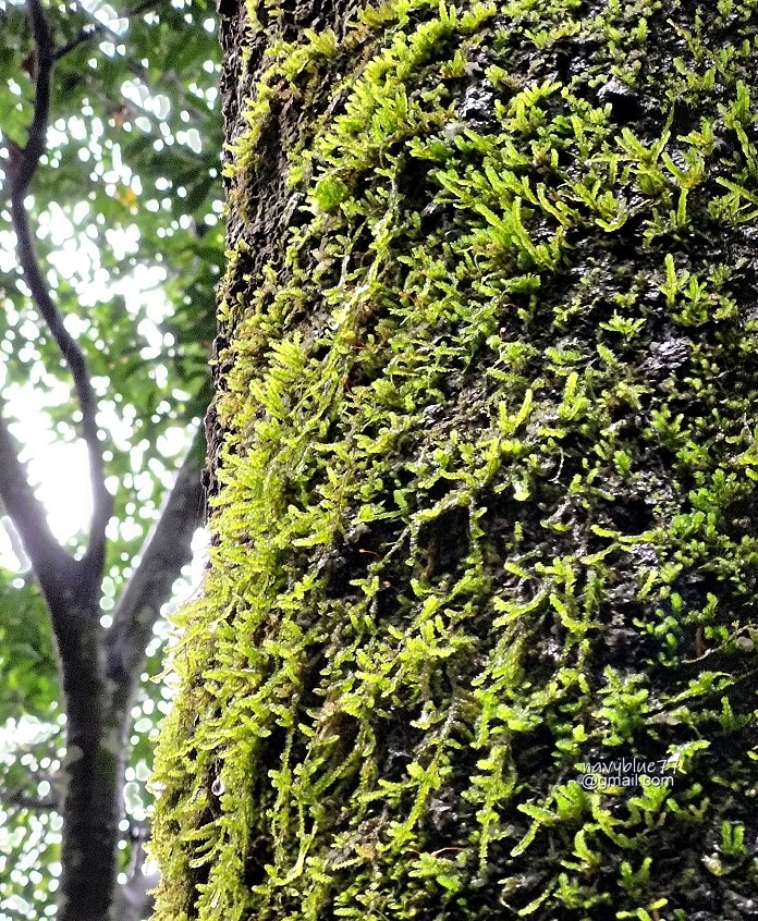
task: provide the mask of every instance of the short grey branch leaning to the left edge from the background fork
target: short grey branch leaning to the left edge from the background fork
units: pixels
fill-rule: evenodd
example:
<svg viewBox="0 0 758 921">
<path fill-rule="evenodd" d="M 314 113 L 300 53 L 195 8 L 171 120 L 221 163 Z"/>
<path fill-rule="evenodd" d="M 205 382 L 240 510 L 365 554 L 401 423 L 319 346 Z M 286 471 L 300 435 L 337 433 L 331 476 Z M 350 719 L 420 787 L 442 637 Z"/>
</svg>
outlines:
<svg viewBox="0 0 758 921">
<path fill-rule="evenodd" d="M 19 461 L 19 445 L 0 415 L 0 496 L 21 535 L 37 580 L 52 604 L 65 589 L 74 561 L 58 543 L 48 525 L 45 506 L 34 494 Z"/>
</svg>

